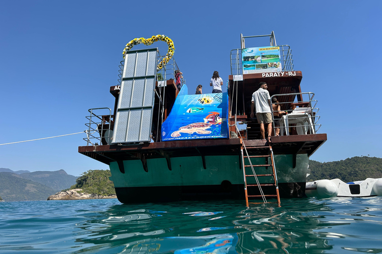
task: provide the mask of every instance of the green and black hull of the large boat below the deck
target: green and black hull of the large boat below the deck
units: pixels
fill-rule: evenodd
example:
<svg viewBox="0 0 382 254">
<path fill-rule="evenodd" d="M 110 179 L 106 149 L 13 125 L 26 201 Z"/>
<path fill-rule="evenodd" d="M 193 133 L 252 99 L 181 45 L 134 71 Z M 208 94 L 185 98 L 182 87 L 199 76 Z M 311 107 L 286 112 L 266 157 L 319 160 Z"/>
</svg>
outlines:
<svg viewBox="0 0 382 254">
<path fill-rule="evenodd" d="M 111 178 L 118 199 L 123 203 L 192 199 L 244 199 L 244 176 L 241 158 L 233 156 L 201 156 L 171 158 L 169 170 L 165 158 L 147 160 L 147 172 L 141 160 L 124 160 L 124 173 L 117 162 L 110 163 Z M 245 159 L 247 160 L 247 159 Z M 270 158 L 251 158 L 253 165 L 267 164 Z M 275 155 L 277 179 L 284 196 L 304 185 L 308 173 L 308 156 Z M 247 164 L 247 162 L 246 162 Z M 256 167 L 256 174 L 270 174 L 272 167 Z M 251 174 L 250 167 L 246 174 Z M 259 177 L 261 183 L 272 183 L 273 177 Z M 255 184 L 255 179 L 247 184 Z M 304 188 L 304 186 L 303 186 Z M 304 191 L 304 190 L 301 190 Z"/>
</svg>

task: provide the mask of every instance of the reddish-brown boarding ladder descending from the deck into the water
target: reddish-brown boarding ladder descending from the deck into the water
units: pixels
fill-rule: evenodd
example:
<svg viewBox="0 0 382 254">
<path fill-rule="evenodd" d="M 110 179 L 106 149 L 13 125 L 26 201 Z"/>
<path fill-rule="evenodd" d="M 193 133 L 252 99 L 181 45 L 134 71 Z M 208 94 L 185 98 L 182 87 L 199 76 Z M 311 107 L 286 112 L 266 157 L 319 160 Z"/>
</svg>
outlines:
<svg viewBox="0 0 382 254">
<path fill-rule="evenodd" d="M 246 147 L 244 144 L 244 141 L 243 140 L 241 141 L 242 141 L 241 155 L 242 155 L 242 165 L 243 165 L 243 174 L 244 174 L 244 191 L 245 191 L 246 205 L 248 206 L 248 204 L 250 203 L 259 204 L 259 202 L 257 203 L 248 202 L 248 198 L 262 197 L 264 203 L 267 203 L 267 199 L 266 199 L 267 197 L 274 197 L 274 198 L 277 198 L 277 204 L 278 206 L 280 206 L 279 186 L 277 181 L 275 160 L 274 160 L 271 143 L 268 141 L 266 145 L 264 146 L 247 146 Z M 247 158 L 247 160 L 245 160 L 245 158 Z M 261 160 L 261 161 L 265 161 L 265 163 L 253 165 L 251 158 L 264 158 L 264 160 Z M 256 174 L 255 168 L 260 169 L 261 167 L 264 167 L 266 171 L 268 170 L 270 171 L 270 169 L 272 169 L 272 172 L 270 172 L 269 174 Z M 273 183 L 261 184 L 259 181 L 259 177 L 272 177 Z M 247 182 L 253 182 L 253 179 L 255 179 L 256 184 L 247 184 Z M 266 188 L 267 194 L 264 194 L 262 187 Z M 260 194 L 256 194 L 256 195 L 252 194 L 257 192 L 256 188 L 259 189 Z M 251 193 L 251 194 L 249 195 L 248 193 Z"/>
</svg>

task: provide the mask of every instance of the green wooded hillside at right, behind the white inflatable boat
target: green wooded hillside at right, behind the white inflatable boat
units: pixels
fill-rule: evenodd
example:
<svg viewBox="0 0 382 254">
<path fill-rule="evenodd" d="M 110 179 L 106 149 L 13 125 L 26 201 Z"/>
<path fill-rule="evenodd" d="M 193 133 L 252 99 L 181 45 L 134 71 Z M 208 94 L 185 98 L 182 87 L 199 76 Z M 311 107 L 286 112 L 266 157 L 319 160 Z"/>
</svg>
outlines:
<svg viewBox="0 0 382 254">
<path fill-rule="evenodd" d="M 382 178 L 382 158 L 352 157 L 332 162 L 309 161 L 310 175 L 307 181 L 338 178 L 345 183 L 366 178 Z"/>
</svg>

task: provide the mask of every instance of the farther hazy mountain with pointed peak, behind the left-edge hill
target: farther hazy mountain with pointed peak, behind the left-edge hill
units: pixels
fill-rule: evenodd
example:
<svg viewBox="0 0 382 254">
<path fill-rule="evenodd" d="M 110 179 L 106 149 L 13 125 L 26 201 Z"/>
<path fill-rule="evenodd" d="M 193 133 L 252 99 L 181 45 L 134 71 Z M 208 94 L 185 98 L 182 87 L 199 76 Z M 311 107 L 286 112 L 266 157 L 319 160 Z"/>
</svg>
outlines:
<svg viewBox="0 0 382 254">
<path fill-rule="evenodd" d="M 68 189 L 76 183 L 77 179 L 75 176 L 68 175 L 63 169 L 58 171 L 29 172 L 21 174 L 20 176 L 22 178 L 50 187 L 55 191 L 55 193 L 64 189 Z"/>
</svg>

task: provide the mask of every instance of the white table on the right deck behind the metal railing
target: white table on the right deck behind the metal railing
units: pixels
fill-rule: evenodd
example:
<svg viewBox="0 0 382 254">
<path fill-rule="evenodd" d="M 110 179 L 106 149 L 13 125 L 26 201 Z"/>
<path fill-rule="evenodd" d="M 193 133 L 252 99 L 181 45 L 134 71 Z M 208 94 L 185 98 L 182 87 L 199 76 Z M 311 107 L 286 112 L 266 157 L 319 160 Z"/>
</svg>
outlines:
<svg viewBox="0 0 382 254">
<path fill-rule="evenodd" d="M 280 135 L 284 135 L 284 129 L 286 135 L 289 135 L 289 124 L 296 124 L 295 127 L 298 135 L 307 134 L 308 128 L 310 128 L 310 133 L 316 133 L 311 116 L 307 112 L 293 111 L 290 114 L 284 115 L 280 119 Z"/>
</svg>

